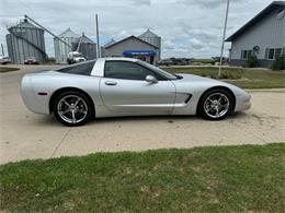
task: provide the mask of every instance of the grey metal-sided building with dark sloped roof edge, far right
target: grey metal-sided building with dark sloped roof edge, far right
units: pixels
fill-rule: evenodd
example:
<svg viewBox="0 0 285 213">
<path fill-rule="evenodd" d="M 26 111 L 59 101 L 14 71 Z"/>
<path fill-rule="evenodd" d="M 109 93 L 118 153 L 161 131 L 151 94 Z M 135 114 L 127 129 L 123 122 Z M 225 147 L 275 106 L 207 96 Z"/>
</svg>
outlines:
<svg viewBox="0 0 285 213">
<path fill-rule="evenodd" d="M 226 42 L 231 43 L 231 66 L 246 66 L 255 55 L 259 67 L 270 67 L 285 52 L 285 1 L 273 1 Z"/>
</svg>

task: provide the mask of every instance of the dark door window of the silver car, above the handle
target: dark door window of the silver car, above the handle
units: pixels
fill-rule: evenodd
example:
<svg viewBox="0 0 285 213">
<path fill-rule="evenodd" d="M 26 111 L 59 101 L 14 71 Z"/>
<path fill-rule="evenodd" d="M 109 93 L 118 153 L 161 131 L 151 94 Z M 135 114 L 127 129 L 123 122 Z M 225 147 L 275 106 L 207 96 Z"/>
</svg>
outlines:
<svg viewBox="0 0 285 213">
<path fill-rule="evenodd" d="M 125 80 L 146 80 L 148 74 L 153 73 L 135 63 L 129 61 L 106 61 L 104 69 L 104 76 L 111 79 L 125 79 Z"/>
</svg>

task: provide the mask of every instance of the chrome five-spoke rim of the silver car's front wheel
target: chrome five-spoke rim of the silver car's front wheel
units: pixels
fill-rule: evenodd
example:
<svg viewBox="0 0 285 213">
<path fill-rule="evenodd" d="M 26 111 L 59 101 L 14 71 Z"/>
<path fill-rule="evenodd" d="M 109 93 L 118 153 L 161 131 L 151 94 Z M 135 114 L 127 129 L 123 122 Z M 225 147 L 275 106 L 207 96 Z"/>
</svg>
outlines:
<svg viewBox="0 0 285 213">
<path fill-rule="evenodd" d="M 230 108 L 229 98 L 223 93 L 213 93 L 204 102 L 205 114 L 214 119 L 225 116 Z"/>
</svg>

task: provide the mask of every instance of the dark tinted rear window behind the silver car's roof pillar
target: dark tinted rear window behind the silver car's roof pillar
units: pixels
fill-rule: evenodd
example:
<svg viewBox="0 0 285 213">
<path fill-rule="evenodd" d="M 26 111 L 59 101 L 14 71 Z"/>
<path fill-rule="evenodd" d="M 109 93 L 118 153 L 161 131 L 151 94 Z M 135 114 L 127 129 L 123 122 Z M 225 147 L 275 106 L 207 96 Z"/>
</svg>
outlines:
<svg viewBox="0 0 285 213">
<path fill-rule="evenodd" d="M 61 68 L 57 71 L 69 73 L 69 74 L 90 75 L 94 64 L 95 64 L 95 60 L 92 60 L 92 61 L 82 62 L 82 63 L 69 66 L 66 68 Z"/>
</svg>

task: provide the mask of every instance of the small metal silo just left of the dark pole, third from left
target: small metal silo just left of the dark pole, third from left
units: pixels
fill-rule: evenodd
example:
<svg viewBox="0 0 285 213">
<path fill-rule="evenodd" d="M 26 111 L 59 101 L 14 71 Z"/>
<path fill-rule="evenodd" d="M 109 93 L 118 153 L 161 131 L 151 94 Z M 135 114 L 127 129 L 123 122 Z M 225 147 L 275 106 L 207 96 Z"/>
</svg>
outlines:
<svg viewBox="0 0 285 213">
<path fill-rule="evenodd" d="M 96 58 L 96 44 L 84 34 L 72 43 L 72 50 L 81 52 L 87 60 Z"/>
</svg>

